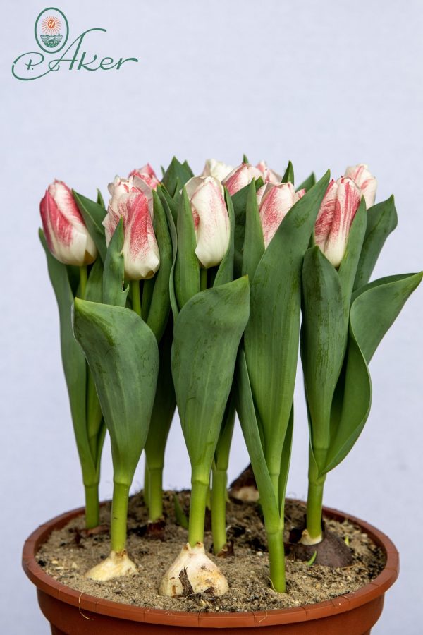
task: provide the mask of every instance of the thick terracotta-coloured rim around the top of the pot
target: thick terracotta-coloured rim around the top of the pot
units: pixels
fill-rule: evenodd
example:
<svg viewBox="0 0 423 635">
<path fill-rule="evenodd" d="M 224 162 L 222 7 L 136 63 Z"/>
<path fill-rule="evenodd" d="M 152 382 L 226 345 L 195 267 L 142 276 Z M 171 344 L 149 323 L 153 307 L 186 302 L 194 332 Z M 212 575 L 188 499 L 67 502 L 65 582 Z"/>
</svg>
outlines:
<svg viewBox="0 0 423 635">
<path fill-rule="evenodd" d="M 163 609 L 153 609 L 146 607 L 132 606 L 111 602 L 96 598 L 94 595 L 80 593 L 73 588 L 65 586 L 49 576 L 42 567 L 39 566 L 35 555 L 42 543 L 49 537 L 56 528 L 65 526 L 69 521 L 84 513 L 84 508 L 79 507 L 71 512 L 65 512 L 46 523 L 40 525 L 25 540 L 22 554 L 22 566 L 25 574 L 32 583 L 39 589 L 60 600 L 63 603 L 79 607 L 80 611 L 87 610 L 101 615 L 109 615 L 121 619 L 129 619 L 133 622 L 147 622 L 149 624 L 166 624 L 180 627 L 203 627 L 219 628 L 228 626 L 228 622 L 233 623 L 233 627 L 252 627 L 273 624 L 292 624 L 294 622 L 307 622 L 312 619 L 326 617 L 335 613 L 343 613 L 372 602 L 372 600 L 383 595 L 388 588 L 398 578 L 399 555 L 392 540 L 376 527 L 362 521 L 355 516 L 345 514 L 337 509 L 324 507 L 324 514 L 329 518 L 342 522 L 344 519 L 360 526 L 364 533 L 372 538 L 386 556 L 386 564 L 379 576 L 362 586 L 357 591 L 338 595 L 333 600 L 326 600 L 309 605 L 302 605 L 295 608 L 271 609 L 269 611 L 249 611 L 249 612 L 187 612 L 168 611 Z"/>
</svg>

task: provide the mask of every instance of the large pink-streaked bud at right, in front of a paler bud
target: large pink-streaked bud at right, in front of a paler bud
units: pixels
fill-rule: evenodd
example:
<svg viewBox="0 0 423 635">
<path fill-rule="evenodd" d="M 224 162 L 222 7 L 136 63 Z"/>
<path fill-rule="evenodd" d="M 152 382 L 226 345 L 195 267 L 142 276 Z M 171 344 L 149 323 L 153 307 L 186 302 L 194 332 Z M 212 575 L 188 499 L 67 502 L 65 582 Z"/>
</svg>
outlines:
<svg viewBox="0 0 423 635">
<path fill-rule="evenodd" d="M 361 197 L 362 191 L 357 183 L 341 176 L 338 181 L 331 180 L 321 201 L 314 236 L 316 244 L 333 267 L 341 265 Z"/>
</svg>

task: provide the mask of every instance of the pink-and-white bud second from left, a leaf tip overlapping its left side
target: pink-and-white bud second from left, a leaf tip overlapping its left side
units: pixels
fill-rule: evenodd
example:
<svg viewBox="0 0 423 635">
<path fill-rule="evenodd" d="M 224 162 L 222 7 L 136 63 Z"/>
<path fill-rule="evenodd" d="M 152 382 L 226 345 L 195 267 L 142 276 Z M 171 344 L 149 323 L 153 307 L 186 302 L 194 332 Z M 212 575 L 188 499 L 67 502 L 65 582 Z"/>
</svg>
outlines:
<svg viewBox="0 0 423 635">
<path fill-rule="evenodd" d="M 151 189 L 137 176 L 129 179 L 116 176 L 109 184 L 109 193 L 111 199 L 103 221 L 107 246 L 122 217 L 125 278 L 152 278 L 159 269 L 160 255 L 152 223 Z"/>
</svg>

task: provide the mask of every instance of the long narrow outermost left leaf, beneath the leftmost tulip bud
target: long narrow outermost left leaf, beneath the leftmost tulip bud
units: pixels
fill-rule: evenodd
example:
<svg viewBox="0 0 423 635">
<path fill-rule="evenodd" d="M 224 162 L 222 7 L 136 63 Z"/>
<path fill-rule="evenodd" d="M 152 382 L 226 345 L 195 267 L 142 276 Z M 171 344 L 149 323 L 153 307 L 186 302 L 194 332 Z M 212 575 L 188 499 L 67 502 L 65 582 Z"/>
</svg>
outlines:
<svg viewBox="0 0 423 635">
<path fill-rule="evenodd" d="M 59 308 L 61 358 L 71 404 L 73 430 L 80 457 L 82 478 L 85 485 L 94 485 L 98 482 L 98 479 L 87 435 L 85 413 L 87 365 L 72 332 L 71 308 L 73 305 L 73 293 L 69 284 L 66 265 L 63 265 L 51 255 L 41 229 L 39 230 L 39 239 L 47 256 L 49 278 Z"/>
</svg>

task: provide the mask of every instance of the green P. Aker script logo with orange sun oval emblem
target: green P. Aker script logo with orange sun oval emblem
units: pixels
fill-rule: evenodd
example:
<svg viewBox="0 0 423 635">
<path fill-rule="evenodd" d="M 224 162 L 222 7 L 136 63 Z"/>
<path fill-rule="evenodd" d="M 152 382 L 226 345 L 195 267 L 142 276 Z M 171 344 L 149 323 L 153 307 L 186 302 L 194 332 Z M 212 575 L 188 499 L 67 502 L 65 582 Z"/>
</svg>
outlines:
<svg viewBox="0 0 423 635">
<path fill-rule="evenodd" d="M 45 8 L 35 20 L 35 42 L 38 50 L 19 55 L 12 64 L 12 75 L 18 80 L 30 81 L 58 71 L 118 71 L 124 63 L 137 62 L 136 57 L 100 57 L 92 50 L 87 52 L 88 34 L 106 29 L 94 27 L 83 31 L 68 44 L 70 35 L 68 20 L 59 8 Z M 66 48 L 67 46 L 67 48 Z M 41 51 L 41 52 L 40 52 Z M 60 53 L 59 57 L 56 55 Z"/>
</svg>

